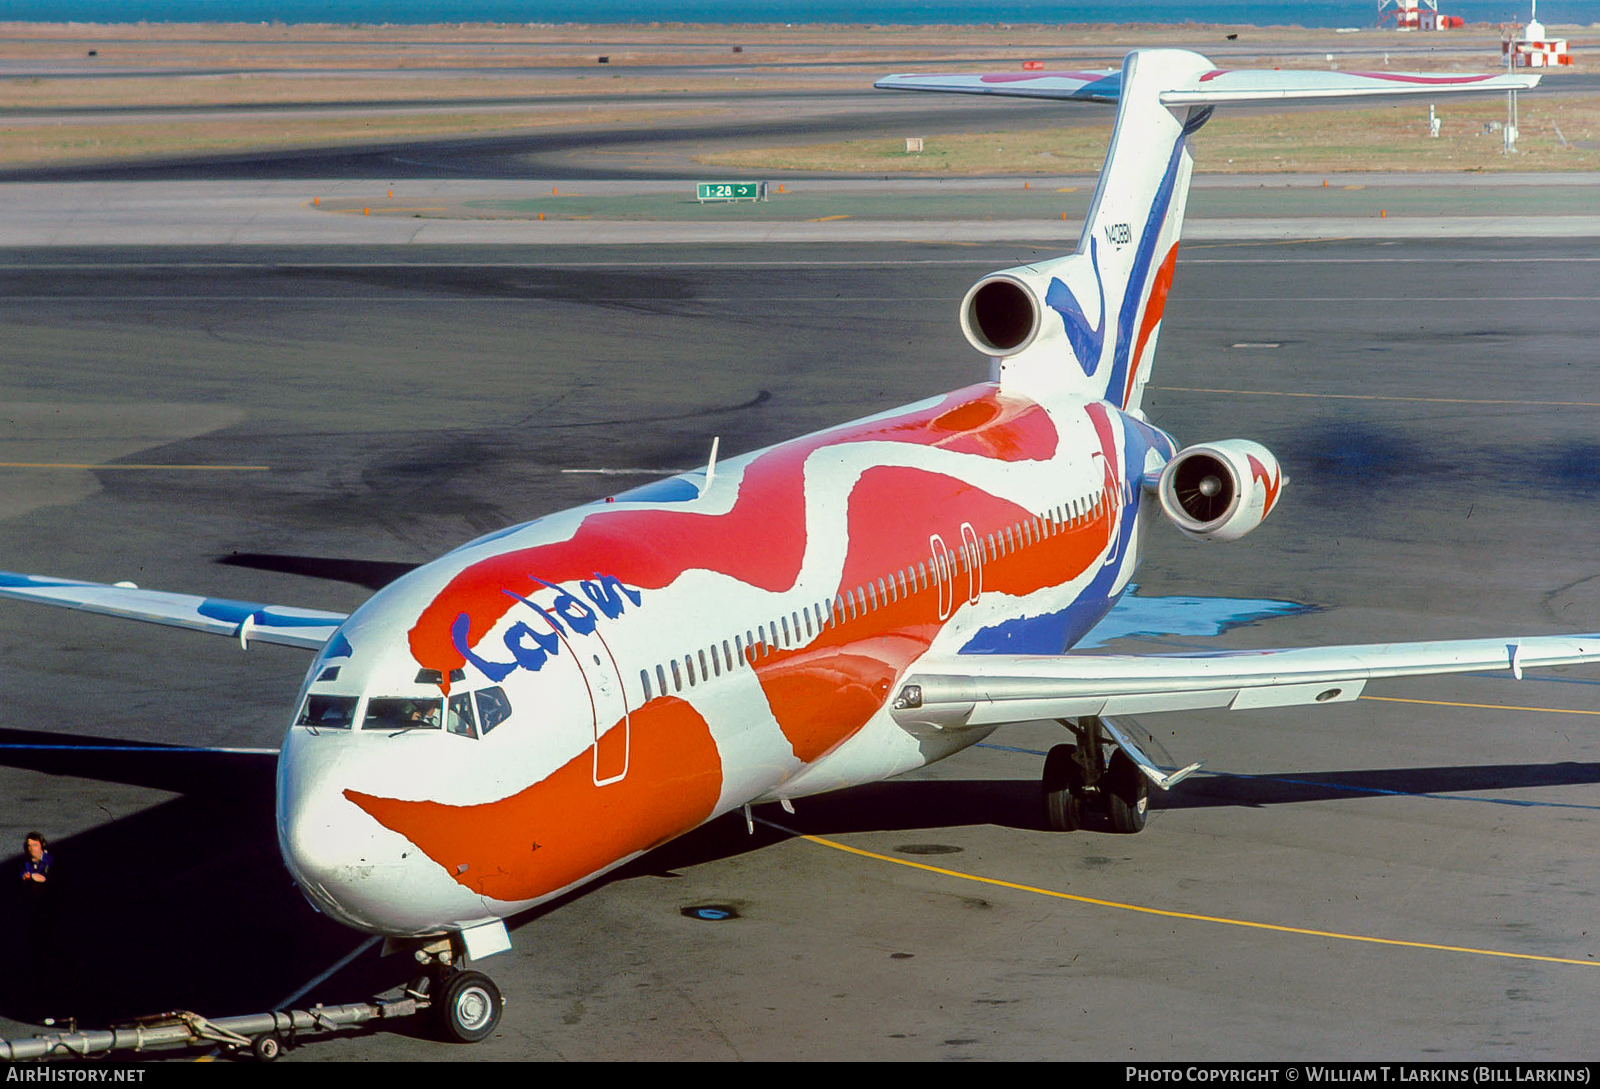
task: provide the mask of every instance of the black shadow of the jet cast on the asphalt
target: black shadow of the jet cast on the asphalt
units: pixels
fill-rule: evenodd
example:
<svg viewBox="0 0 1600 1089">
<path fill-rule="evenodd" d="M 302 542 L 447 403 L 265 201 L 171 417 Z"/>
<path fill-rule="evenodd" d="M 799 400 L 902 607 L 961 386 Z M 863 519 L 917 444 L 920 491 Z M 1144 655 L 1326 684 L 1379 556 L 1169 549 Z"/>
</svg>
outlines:
<svg viewBox="0 0 1600 1089">
<path fill-rule="evenodd" d="M 34 971 L 8 971 L 0 983 L 3 1017 L 70 1015 L 82 1025 L 104 1027 L 168 1009 L 206 1015 L 259 1012 L 272 1009 L 365 940 L 317 915 L 285 870 L 274 828 L 275 758 L 270 753 L 0 729 L 0 766 L 179 795 L 51 844 L 54 870 L 43 940 L 26 958 Z M 1579 763 L 1213 774 L 1190 779 L 1155 804 L 1197 809 L 1362 795 L 1456 798 L 1461 792 L 1597 782 L 1600 764 Z M 1045 827 L 1034 779 L 891 780 L 805 798 L 797 808 L 798 814 L 790 816 L 778 806 L 760 806 L 755 835 L 746 832 L 742 814 L 728 814 L 595 886 L 518 916 L 514 926 L 528 926 L 608 881 L 670 873 L 760 851 L 789 838 L 790 832 L 840 836 L 926 833 L 981 824 L 1024 832 Z M 0 870 L 11 875 L 19 865 L 18 852 L 0 862 Z M 26 932 L 19 897 L 0 900 L 3 932 Z M 488 967 L 493 972 L 493 964 Z M 357 1001 L 390 990 L 414 972 L 410 958 L 379 958 L 371 950 L 296 1006 L 318 999 Z"/>
</svg>

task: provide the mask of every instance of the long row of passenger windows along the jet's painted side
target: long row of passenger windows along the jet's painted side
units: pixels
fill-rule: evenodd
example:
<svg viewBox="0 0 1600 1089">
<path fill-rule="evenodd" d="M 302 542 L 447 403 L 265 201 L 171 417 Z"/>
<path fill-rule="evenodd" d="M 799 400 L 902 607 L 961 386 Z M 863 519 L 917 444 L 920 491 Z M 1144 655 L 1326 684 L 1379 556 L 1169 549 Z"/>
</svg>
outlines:
<svg viewBox="0 0 1600 1089">
<path fill-rule="evenodd" d="M 1091 521 L 1099 517 L 1102 505 L 1104 493 L 1074 499 L 1053 510 L 1046 510 L 1043 515 L 1013 523 L 971 544 L 962 544 L 962 547 L 950 550 L 944 560 L 949 564 L 946 577 L 966 574 L 974 564 L 992 563 L 1024 545 L 1038 544 Z M 685 688 L 694 688 L 698 683 L 722 676 L 723 672 L 731 673 L 739 665 L 754 665 L 757 659 L 770 656 L 774 648 L 794 646 L 846 620 L 854 620 L 867 612 L 875 612 L 885 604 L 926 590 L 938 579 L 939 558 L 930 556 L 915 568 L 901 568 L 875 582 L 867 582 L 842 593 L 832 601 L 819 601 L 798 612 L 778 617 L 771 624 L 760 624 L 755 630 L 746 630 L 742 638 L 734 635 L 720 644 L 714 643 L 709 648 L 690 651 L 682 659 L 656 665 L 654 672 L 648 668 L 640 670 L 640 691 L 645 696 L 645 702 L 650 702 L 658 694 L 666 696 L 667 692 L 682 692 Z"/>
</svg>

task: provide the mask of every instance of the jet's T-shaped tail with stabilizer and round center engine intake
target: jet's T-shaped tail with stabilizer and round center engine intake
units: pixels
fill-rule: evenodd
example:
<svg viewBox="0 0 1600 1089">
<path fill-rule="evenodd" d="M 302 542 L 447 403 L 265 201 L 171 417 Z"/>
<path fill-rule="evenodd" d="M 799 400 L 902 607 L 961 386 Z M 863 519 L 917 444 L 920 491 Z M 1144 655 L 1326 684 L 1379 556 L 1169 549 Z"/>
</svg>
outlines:
<svg viewBox="0 0 1600 1089">
<path fill-rule="evenodd" d="M 1117 102 L 1117 125 L 1077 251 L 984 277 L 962 301 L 962 331 L 1000 382 L 1138 409 L 1178 261 L 1187 138 L 1221 104 L 1368 94 L 1514 91 L 1538 75 L 1234 70 L 1184 50 L 1138 50 L 1122 72 L 891 75 L 885 90 Z"/>
</svg>

